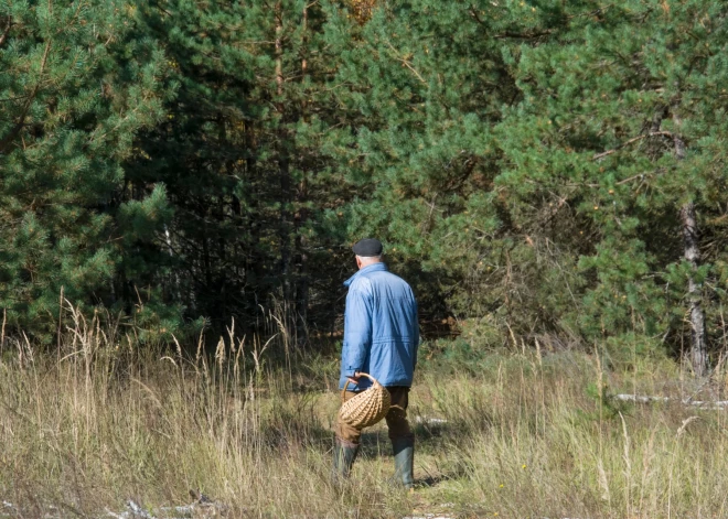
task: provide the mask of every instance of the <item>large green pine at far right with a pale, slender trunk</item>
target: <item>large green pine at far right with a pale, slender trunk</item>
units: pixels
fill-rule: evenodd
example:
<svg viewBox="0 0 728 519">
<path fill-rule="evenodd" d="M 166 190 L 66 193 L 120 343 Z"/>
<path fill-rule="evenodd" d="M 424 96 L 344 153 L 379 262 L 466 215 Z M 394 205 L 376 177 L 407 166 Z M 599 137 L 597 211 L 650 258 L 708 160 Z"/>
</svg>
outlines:
<svg viewBox="0 0 728 519">
<path fill-rule="evenodd" d="M 710 1 L 529 9 L 547 34 L 518 50 L 523 100 L 497 130 L 499 181 L 520 202 L 512 216 L 527 225 L 544 212 L 569 214 L 561 230 L 571 236 L 552 240 L 579 258 L 587 284 L 572 323 L 582 334 L 638 331 L 646 344 L 679 345 L 687 322 L 702 375 L 703 304 L 724 293 L 715 262 L 725 248 L 700 245 L 696 231 L 713 234 L 722 214 L 716 143 L 726 136 L 717 116 L 728 11 Z M 714 310 L 708 328 L 716 318 Z"/>
</svg>

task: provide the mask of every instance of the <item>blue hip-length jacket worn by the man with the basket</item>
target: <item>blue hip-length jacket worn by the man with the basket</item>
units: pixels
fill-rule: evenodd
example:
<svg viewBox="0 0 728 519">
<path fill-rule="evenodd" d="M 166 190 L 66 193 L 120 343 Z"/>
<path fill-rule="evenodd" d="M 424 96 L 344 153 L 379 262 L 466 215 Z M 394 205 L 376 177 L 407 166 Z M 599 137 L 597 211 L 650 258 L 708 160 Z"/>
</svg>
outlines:
<svg viewBox="0 0 728 519">
<path fill-rule="evenodd" d="M 344 285 L 349 294 L 339 389 L 355 371 L 372 375 L 383 386 L 410 387 L 419 346 L 413 290 L 384 263 L 364 267 Z M 368 386 L 370 380 L 362 377 L 358 386 L 350 383 L 347 389 Z"/>
</svg>

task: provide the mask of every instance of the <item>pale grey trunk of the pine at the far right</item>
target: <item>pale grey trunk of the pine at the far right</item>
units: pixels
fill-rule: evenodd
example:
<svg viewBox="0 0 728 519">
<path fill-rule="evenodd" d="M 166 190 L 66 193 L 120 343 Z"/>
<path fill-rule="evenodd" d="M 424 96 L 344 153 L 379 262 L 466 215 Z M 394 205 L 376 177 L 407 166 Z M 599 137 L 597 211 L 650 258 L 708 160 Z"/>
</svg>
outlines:
<svg viewBox="0 0 728 519">
<path fill-rule="evenodd" d="M 685 142 L 678 133 L 681 127 L 679 115 L 673 110 L 675 123 L 674 143 L 675 155 L 678 161 L 685 159 Z M 690 263 L 692 273 L 688 277 L 687 298 L 690 312 L 690 364 L 697 377 L 703 377 L 708 370 L 707 340 L 705 333 L 705 314 L 703 312 L 703 286 L 695 281 L 694 272 L 700 263 L 700 249 L 698 248 L 698 229 L 695 217 L 695 204 L 683 205 L 679 212 L 683 223 L 683 244 L 685 259 Z"/>
</svg>

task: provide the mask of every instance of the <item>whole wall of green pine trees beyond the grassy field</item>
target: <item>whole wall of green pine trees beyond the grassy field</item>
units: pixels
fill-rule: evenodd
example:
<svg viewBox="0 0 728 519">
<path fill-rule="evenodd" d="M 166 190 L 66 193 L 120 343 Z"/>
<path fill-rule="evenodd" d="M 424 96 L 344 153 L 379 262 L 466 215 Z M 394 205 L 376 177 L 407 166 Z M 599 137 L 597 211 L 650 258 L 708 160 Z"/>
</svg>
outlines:
<svg viewBox="0 0 728 519">
<path fill-rule="evenodd" d="M 377 236 L 471 342 L 724 346 L 717 0 L 4 2 L 0 303 L 335 329 Z"/>
</svg>

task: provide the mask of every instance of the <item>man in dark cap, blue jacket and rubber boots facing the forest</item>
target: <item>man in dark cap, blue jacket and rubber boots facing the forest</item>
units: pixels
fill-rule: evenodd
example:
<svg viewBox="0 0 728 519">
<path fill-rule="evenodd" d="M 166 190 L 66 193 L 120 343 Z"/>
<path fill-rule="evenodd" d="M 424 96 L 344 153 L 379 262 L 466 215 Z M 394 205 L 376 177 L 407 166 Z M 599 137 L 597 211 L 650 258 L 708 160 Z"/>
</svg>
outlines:
<svg viewBox="0 0 728 519">
<path fill-rule="evenodd" d="M 385 420 L 395 458 L 395 479 L 413 488 L 415 436 L 407 423 L 407 397 L 417 364 L 419 326 L 417 302 L 409 285 L 382 262 L 382 244 L 363 239 L 352 248 L 358 272 L 349 286 L 344 314 L 339 389 L 350 380 L 346 400 L 371 386 L 360 377 L 366 372 L 386 387 L 392 407 Z M 334 445 L 334 475 L 349 476 L 358 451 L 362 431 L 338 420 Z"/>
</svg>

